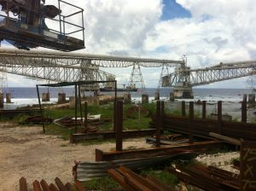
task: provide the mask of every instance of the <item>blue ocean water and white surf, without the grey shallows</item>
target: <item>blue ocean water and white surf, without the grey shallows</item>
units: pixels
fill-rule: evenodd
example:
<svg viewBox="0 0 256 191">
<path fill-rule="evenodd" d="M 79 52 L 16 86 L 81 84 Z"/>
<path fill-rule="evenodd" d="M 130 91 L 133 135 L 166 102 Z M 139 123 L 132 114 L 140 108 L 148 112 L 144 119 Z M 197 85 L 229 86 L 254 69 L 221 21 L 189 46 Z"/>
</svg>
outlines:
<svg viewBox="0 0 256 191">
<path fill-rule="evenodd" d="M 157 91 L 156 88 L 146 89 L 146 93 L 149 96 L 149 101 L 154 100 L 154 93 Z M 241 101 L 243 94 L 249 94 L 250 90 L 248 89 L 199 89 L 195 88 L 194 99 L 205 100 L 205 101 Z M 3 93 L 6 93 L 7 90 L 3 90 Z M 66 93 L 66 97 L 74 96 L 74 88 L 40 88 L 39 94 L 42 96 L 42 93 L 49 92 L 51 101 L 57 101 L 58 93 Z M 168 99 L 172 89 L 163 88 L 160 89 L 160 99 Z M 29 88 L 18 88 L 12 87 L 9 88 L 9 93 L 11 93 L 13 105 L 30 105 L 38 103 L 37 89 L 33 87 Z M 145 92 L 131 92 L 131 99 L 133 101 L 140 101 L 142 94 Z M 101 92 L 102 95 L 113 95 L 113 92 Z M 118 92 L 118 95 L 123 95 L 125 92 Z M 93 92 L 87 92 L 86 95 L 93 95 Z M 190 100 L 187 100 L 190 101 Z"/>
</svg>

